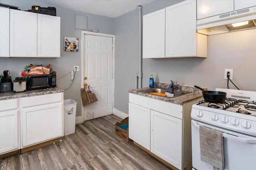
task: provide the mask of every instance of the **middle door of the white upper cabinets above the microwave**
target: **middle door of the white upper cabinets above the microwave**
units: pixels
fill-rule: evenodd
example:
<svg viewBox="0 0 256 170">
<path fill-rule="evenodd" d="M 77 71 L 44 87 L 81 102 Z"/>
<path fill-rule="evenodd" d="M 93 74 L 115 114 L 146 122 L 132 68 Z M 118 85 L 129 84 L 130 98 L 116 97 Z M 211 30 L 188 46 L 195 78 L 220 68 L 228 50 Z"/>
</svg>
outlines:
<svg viewBox="0 0 256 170">
<path fill-rule="evenodd" d="M 10 57 L 36 57 L 37 14 L 10 10 Z"/>
</svg>

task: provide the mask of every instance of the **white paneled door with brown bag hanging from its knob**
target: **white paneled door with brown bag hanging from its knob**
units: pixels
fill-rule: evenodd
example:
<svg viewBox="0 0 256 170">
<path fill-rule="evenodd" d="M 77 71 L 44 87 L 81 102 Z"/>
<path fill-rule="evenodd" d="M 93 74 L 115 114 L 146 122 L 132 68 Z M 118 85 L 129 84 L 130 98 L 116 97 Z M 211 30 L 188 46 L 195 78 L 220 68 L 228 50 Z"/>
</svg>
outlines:
<svg viewBox="0 0 256 170">
<path fill-rule="evenodd" d="M 84 121 L 112 114 L 112 37 L 84 35 L 84 76 L 98 98 L 84 106 Z"/>
</svg>

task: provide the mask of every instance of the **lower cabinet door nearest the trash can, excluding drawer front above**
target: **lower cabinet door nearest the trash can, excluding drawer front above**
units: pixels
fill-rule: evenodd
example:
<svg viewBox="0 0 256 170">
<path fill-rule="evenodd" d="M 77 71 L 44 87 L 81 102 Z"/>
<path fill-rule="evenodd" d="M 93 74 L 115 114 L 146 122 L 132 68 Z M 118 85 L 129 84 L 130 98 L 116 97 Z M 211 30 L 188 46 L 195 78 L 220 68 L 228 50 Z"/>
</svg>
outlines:
<svg viewBox="0 0 256 170">
<path fill-rule="evenodd" d="M 62 136 L 62 102 L 21 111 L 22 148 Z"/>
</svg>

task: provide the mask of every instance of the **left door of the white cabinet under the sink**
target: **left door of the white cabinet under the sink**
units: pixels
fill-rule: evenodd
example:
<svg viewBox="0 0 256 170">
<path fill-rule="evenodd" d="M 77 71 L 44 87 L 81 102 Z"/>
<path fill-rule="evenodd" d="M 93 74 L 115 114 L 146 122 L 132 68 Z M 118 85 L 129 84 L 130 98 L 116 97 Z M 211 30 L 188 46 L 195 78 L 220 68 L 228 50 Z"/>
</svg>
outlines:
<svg viewBox="0 0 256 170">
<path fill-rule="evenodd" d="M 129 138 L 150 150 L 150 109 L 129 103 Z"/>
</svg>

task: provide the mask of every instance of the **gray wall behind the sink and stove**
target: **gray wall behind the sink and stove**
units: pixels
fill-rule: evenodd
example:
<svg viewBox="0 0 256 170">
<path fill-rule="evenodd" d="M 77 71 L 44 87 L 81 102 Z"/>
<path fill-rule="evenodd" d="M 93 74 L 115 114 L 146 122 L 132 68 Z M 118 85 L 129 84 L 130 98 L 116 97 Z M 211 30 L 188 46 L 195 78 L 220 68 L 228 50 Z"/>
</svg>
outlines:
<svg viewBox="0 0 256 170">
<path fill-rule="evenodd" d="M 181 1 L 154 1 L 142 7 L 142 15 Z M 138 72 L 138 10 L 115 20 L 115 102 L 114 107 L 128 113 L 128 90 L 134 89 Z M 156 30 L 157 31 L 157 30 Z M 232 68 L 233 82 L 241 90 L 256 91 L 256 29 L 208 36 L 208 57 L 143 59 L 142 87 L 148 87 L 150 74 L 157 82 L 227 88 L 224 69 Z M 230 82 L 230 88 L 235 87 Z"/>
</svg>

